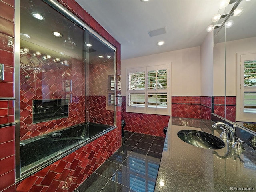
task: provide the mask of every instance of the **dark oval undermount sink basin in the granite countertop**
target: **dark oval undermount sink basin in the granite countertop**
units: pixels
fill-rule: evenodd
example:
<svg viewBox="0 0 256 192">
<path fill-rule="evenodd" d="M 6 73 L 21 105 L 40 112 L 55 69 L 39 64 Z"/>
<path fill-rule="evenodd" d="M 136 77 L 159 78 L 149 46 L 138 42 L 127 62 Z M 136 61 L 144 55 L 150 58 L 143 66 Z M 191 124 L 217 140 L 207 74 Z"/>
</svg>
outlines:
<svg viewBox="0 0 256 192">
<path fill-rule="evenodd" d="M 196 147 L 204 149 L 221 149 L 225 147 L 225 143 L 218 137 L 197 130 L 181 130 L 178 132 L 178 137 Z"/>
</svg>

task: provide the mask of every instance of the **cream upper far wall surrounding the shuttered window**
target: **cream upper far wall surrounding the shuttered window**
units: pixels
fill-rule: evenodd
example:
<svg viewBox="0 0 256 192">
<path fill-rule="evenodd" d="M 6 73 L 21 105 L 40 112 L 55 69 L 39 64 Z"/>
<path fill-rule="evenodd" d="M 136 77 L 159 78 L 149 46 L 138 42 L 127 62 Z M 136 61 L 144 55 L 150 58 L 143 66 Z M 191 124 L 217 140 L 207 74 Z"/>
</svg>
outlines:
<svg viewBox="0 0 256 192">
<path fill-rule="evenodd" d="M 121 94 L 126 95 L 126 68 L 170 64 L 172 96 L 200 96 L 200 47 L 121 61 Z"/>
</svg>

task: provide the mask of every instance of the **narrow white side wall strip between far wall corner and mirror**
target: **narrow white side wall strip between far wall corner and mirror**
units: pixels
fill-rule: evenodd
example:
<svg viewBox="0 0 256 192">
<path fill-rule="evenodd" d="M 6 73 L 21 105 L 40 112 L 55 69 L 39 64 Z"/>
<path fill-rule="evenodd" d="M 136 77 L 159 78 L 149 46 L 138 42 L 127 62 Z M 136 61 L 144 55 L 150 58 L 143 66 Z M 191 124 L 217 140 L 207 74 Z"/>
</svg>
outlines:
<svg viewBox="0 0 256 192">
<path fill-rule="evenodd" d="M 201 96 L 213 96 L 213 31 L 201 45 Z"/>
</svg>

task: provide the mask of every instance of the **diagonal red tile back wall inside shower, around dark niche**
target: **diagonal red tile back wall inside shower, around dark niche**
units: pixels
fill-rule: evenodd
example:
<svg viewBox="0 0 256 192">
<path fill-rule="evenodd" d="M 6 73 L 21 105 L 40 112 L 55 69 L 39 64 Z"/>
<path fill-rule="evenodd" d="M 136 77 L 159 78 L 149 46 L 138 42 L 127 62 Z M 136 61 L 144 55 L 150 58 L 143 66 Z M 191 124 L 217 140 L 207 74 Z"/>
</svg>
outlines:
<svg viewBox="0 0 256 192">
<path fill-rule="evenodd" d="M 27 54 L 22 57 L 31 57 Z M 39 63 L 42 72 L 34 72 L 28 65 L 20 68 L 20 140 L 85 122 L 84 64 L 72 58 L 70 66 L 56 62 Z M 30 76 L 30 78 L 25 78 Z M 72 81 L 72 90 L 65 92 L 62 83 Z M 48 90 L 44 91 L 48 85 Z M 61 99 L 72 95 L 69 102 L 68 118 L 33 124 L 33 100 Z"/>
</svg>

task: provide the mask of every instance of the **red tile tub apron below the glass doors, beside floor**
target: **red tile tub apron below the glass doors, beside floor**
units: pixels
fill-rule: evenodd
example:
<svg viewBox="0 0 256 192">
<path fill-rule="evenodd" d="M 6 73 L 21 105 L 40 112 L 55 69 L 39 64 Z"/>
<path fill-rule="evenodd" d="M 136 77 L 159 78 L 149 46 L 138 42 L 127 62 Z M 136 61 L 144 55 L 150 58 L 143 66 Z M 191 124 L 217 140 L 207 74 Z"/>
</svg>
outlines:
<svg viewBox="0 0 256 192">
<path fill-rule="evenodd" d="M 119 147 L 114 129 L 17 184 L 16 192 L 73 192 Z"/>
</svg>

